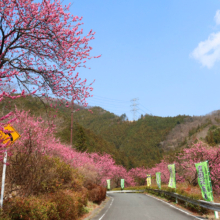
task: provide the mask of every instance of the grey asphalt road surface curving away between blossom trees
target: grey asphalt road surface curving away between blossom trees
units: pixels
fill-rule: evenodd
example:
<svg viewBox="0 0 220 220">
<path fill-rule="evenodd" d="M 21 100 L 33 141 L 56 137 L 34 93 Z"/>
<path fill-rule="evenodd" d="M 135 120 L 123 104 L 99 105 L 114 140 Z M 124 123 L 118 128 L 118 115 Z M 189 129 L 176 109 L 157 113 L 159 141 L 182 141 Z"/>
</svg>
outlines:
<svg viewBox="0 0 220 220">
<path fill-rule="evenodd" d="M 184 211 L 140 193 L 112 193 L 105 208 L 92 220 L 194 220 Z"/>
</svg>

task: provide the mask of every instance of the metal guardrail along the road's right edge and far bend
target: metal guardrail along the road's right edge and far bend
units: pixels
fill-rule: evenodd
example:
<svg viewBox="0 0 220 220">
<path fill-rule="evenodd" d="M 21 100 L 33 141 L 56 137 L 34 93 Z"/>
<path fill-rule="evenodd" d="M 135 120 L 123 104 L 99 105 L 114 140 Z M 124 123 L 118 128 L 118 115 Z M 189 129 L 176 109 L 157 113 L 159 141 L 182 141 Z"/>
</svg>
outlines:
<svg viewBox="0 0 220 220">
<path fill-rule="evenodd" d="M 118 190 L 118 191 L 107 191 L 107 193 L 134 193 L 134 192 L 144 192 L 145 190 Z M 177 193 L 172 193 L 172 192 L 167 192 L 167 191 L 163 191 L 163 190 L 158 190 L 158 189 L 146 189 L 146 191 L 152 191 L 152 192 L 157 192 L 160 194 L 166 194 L 168 196 L 172 196 L 175 197 L 179 200 L 188 202 L 188 203 L 192 203 L 194 205 L 198 205 L 201 206 L 203 208 L 207 208 L 213 211 L 218 211 L 220 212 L 220 203 L 214 203 L 214 202 L 206 202 L 203 200 L 194 200 L 194 199 L 190 199 L 188 197 L 185 196 L 181 196 Z"/>
</svg>

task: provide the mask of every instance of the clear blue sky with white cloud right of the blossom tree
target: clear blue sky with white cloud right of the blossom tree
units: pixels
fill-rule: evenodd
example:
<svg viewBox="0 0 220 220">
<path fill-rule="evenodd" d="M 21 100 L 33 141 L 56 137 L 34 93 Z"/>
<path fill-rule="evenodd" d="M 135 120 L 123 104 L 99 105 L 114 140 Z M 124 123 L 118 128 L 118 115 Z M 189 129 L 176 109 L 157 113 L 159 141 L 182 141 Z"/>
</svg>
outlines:
<svg viewBox="0 0 220 220">
<path fill-rule="evenodd" d="M 63 4 L 70 1 L 65 0 Z M 96 80 L 91 106 L 130 120 L 205 115 L 220 109 L 220 0 L 75 0 L 70 12 L 93 29 L 91 69 Z"/>
</svg>

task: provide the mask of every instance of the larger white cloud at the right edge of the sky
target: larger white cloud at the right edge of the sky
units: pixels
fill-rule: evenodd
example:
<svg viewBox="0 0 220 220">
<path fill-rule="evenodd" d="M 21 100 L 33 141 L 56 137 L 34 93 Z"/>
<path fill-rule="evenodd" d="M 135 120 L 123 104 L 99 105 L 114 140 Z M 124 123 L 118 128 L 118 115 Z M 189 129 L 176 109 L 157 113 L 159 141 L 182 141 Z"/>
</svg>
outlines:
<svg viewBox="0 0 220 220">
<path fill-rule="evenodd" d="M 191 57 L 203 66 L 213 67 L 215 62 L 220 60 L 220 32 L 212 33 L 207 40 L 201 41 L 191 53 Z"/>
</svg>

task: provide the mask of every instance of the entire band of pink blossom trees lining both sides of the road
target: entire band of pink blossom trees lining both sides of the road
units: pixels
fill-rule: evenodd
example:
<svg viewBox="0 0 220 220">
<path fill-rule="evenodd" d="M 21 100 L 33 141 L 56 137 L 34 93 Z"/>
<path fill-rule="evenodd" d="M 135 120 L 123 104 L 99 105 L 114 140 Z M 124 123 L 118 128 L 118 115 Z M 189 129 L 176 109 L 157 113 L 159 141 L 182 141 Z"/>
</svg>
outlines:
<svg viewBox="0 0 220 220">
<path fill-rule="evenodd" d="M 95 173 L 95 183 L 106 185 L 106 180 L 111 179 L 118 187 L 121 179 L 125 179 L 126 186 L 141 185 L 145 183 L 147 174 L 155 176 L 156 172 L 161 172 L 161 180 L 167 184 L 170 176 L 168 165 L 173 163 L 176 165 L 177 182 L 187 181 L 194 184 L 197 181 L 195 163 L 208 160 L 213 189 L 216 192 L 220 191 L 219 147 L 209 147 L 199 142 L 183 149 L 173 161 L 164 159 L 153 168 L 139 167 L 127 171 L 123 166 L 116 165 L 108 154 L 82 153 L 62 144 L 54 137 L 53 122 L 45 122 L 41 117 L 35 118 L 29 112 L 17 109 L 15 117 L 13 125 L 21 134 L 21 138 L 8 149 L 9 156 L 16 152 L 28 153 L 31 150 L 34 154 L 59 157 L 74 168 L 86 170 L 84 173 Z"/>
</svg>

